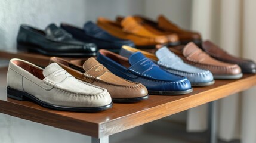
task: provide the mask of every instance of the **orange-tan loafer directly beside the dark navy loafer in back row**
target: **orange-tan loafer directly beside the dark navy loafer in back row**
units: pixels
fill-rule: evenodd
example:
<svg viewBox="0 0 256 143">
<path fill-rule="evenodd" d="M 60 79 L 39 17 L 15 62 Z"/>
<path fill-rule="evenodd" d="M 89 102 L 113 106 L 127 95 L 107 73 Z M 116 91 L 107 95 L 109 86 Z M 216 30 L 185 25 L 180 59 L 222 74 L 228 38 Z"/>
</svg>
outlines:
<svg viewBox="0 0 256 143">
<path fill-rule="evenodd" d="M 113 36 L 131 40 L 135 43 L 136 46 L 155 46 L 158 44 L 162 45 L 168 43 L 168 39 L 166 39 L 165 36 L 150 37 L 137 35 L 135 33 L 129 33 L 125 31 L 125 29 L 123 29 L 123 27 L 119 23 L 107 20 L 103 17 L 98 18 L 97 24 Z"/>
</svg>

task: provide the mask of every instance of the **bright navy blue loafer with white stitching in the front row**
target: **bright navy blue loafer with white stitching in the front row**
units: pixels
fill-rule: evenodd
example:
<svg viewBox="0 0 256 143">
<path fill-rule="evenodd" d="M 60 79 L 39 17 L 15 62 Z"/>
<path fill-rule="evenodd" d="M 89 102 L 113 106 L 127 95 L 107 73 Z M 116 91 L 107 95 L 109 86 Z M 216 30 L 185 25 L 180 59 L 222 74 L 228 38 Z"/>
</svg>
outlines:
<svg viewBox="0 0 256 143">
<path fill-rule="evenodd" d="M 98 51 L 97 60 L 116 76 L 142 83 L 149 94 L 181 95 L 193 91 L 186 77 L 162 70 L 141 52 L 135 52 L 126 58 L 101 49 Z"/>
</svg>

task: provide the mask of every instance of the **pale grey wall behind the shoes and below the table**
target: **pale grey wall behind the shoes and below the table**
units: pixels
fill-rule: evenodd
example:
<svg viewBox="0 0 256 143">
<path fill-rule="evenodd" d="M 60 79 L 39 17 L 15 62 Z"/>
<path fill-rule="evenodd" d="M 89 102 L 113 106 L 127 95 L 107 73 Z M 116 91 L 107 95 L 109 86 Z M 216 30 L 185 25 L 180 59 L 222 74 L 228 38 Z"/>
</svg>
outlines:
<svg viewBox="0 0 256 143">
<path fill-rule="evenodd" d="M 98 16 L 114 19 L 116 15 L 144 14 L 156 18 L 162 13 L 181 27 L 189 29 L 190 4 L 191 2 L 186 0 L 1 0 L 0 49 L 16 49 L 16 36 L 22 23 L 40 29 L 50 23 L 60 22 L 82 27 L 85 21 L 95 21 Z M 184 119 L 183 117 L 184 114 L 179 119 Z M 132 133 L 136 132 L 129 132 L 129 135 Z M 125 136 L 125 133 L 123 135 Z M 84 143 L 90 142 L 90 138 L 0 113 L 0 142 Z"/>
</svg>

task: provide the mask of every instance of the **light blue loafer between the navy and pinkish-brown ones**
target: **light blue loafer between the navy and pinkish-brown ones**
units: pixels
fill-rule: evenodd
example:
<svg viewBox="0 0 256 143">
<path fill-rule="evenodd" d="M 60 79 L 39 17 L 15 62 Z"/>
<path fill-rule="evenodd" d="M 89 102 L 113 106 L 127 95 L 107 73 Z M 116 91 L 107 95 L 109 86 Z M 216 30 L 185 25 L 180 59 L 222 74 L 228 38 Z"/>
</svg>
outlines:
<svg viewBox="0 0 256 143">
<path fill-rule="evenodd" d="M 199 69 L 198 67 L 184 63 L 181 58 L 169 51 L 167 47 L 162 47 L 155 54 L 151 54 L 129 46 L 122 46 L 120 55 L 129 57 L 134 52 L 141 52 L 147 58 L 154 60 L 162 69 L 170 73 L 187 77 L 192 85 L 214 81 L 212 73 L 209 70 Z"/>
</svg>

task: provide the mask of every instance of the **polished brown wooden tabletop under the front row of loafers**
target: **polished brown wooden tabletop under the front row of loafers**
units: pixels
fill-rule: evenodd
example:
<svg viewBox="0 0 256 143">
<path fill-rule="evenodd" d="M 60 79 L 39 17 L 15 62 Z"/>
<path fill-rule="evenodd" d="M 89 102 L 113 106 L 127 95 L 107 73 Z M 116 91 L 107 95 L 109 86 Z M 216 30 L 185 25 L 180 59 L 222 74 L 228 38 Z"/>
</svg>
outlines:
<svg viewBox="0 0 256 143">
<path fill-rule="evenodd" d="M 0 69 L 0 113 L 32 120 L 56 128 L 101 138 L 112 135 L 189 108 L 244 91 L 256 85 L 256 74 L 245 74 L 239 80 L 215 80 L 215 84 L 193 88 L 186 95 L 150 95 L 146 101 L 132 104 L 113 104 L 113 108 L 99 113 L 75 113 L 50 110 L 30 101 L 7 98 L 7 69 Z"/>
</svg>

